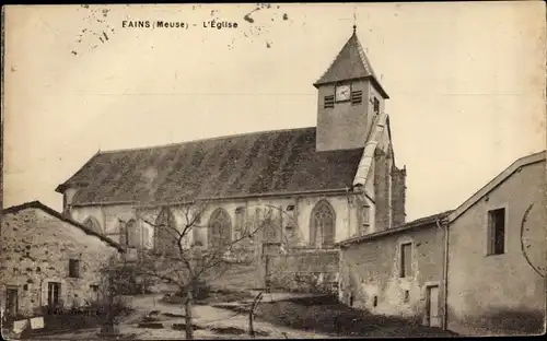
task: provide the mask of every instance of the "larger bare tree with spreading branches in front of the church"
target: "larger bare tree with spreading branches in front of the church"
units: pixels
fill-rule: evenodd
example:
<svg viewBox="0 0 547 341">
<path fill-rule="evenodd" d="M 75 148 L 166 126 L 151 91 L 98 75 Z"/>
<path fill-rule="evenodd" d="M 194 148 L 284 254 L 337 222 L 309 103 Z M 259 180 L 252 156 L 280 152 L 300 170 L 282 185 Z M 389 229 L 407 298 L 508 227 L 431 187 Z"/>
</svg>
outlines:
<svg viewBox="0 0 547 341">
<path fill-rule="evenodd" d="M 237 262 L 251 262 L 257 254 L 256 235 L 266 225 L 245 220 L 235 236 L 222 231 L 217 222 L 202 223 L 201 216 L 209 208 L 208 202 L 196 201 L 179 207 L 183 220 L 173 222 L 174 216 L 162 210 L 138 210 L 138 219 L 154 230 L 154 249 L 142 252 L 138 259 L 140 275 L 152 277 L 173 284 L 184 295 L 186 339 L 194 338 L 193 305 L 199 285 L 221 277 L 229 267 Z M 162 214 L 164 216 L 162 216 Z M 194 240 L 196 232 L 206 232 L 207 245 Z"/>
</svg>

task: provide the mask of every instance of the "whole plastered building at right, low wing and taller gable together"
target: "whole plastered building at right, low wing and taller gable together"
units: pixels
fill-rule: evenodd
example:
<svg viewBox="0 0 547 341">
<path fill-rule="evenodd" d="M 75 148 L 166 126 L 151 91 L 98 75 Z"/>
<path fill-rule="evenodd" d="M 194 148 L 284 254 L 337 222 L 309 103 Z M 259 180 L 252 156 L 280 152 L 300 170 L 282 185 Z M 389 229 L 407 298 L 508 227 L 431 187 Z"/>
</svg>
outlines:
<svg viewBox="0 0 547 341">
<path fill-rule="evenodd" d="M 545 332 L 545 152 L 453 211 L 342 240 L 341 302 L 461 334 Z"/>
</svg>

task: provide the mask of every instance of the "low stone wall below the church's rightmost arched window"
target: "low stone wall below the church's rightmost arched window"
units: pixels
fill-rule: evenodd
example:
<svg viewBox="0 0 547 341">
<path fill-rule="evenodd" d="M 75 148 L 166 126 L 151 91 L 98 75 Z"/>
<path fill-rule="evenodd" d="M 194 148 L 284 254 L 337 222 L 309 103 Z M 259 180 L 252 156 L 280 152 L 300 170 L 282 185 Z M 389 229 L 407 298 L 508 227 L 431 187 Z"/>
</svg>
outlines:
<svg viewBox="0 0 547 341">
<path fill-rule="evenodd" d="M 284 255 L 263 256 L 265 286 L 336 294 L 338 263 L 337 249 L 293 250 Z"/>
</svg>

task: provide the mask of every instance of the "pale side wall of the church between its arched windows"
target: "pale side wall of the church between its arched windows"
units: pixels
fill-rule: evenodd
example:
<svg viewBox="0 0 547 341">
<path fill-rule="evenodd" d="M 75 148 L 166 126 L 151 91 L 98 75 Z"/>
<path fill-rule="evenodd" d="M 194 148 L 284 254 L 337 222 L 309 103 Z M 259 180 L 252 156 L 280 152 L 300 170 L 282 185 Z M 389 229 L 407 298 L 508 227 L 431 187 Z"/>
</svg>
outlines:
<svg viewBox="0 0 547 341">
<path fill-rule="evenodd" d="M 202 212 L 200 225 L 207 226 L 211 214 L 217 209 L 223 209 L 230 216 L 232 224 L 233 237 L 236 237 L 236 211 L 241 208 L 245 211 L 244 224 L 252 224 L 254 221 L 264 221 L 268 211 L 271 211 L 274 221 L 277 224 L 277 236 L 283 243 L 291 246 L 307 246 L 310 244 L 310 221 L 314 207 L 322 200 L 326 200 L 335 211 L 335 240 L 353 236 L 357 232 L 358 210 L 356 205 L 351 205 L 351 195 L 333 193 L 333 195 L 309 195 L 278 198 L 247 198 L 232 200 L 216 200 L 207 202 L 207 208 Z M 185 214 L 178 205 L 171 208 L 177 226 L 184 226 Z M 93 216 L 101 224 L 101 230 L 113 240 L 119 240 L 120 221 L 128 222 L 131 219 L 137 220 L 137 226 L 140 228 L 142 247 L 153 247 L 152 226 L 139 220 L 139 215 L 147 216 L 152 222 L 155 221 L 160 210 L 158 208 L 137 209 L 128 204 L 113 205 L 86 205 L 71 207 L 70 215 L 78 222 L 83 223 L 89 216 Z M 258 214 L 258 216 L 257 216 Z M 207 228 L 195 228 L 195 233 L 189 234 L 185 243 L 191 244 L 195 239 L 200 239 L 207 245 Z M 260 243 L 263 239 L 261 232 L 255 235 L 255 242 Z"/>
</svg>

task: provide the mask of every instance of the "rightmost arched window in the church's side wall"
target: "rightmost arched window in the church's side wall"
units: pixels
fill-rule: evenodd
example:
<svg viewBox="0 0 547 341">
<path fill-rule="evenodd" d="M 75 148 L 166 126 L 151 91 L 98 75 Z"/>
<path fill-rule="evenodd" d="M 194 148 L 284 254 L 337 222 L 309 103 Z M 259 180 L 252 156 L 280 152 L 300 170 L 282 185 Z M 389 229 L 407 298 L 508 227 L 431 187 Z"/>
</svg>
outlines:
<svg viewBox="0 0 547 341">
<path fill-rule="evenodd" d="M 317 202 L 310 222 L 310 244 L 327 247 L 335 243 L 335 210 L 326 200 Z"/>
</svg>

